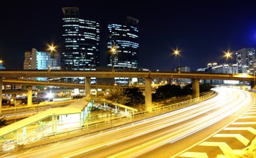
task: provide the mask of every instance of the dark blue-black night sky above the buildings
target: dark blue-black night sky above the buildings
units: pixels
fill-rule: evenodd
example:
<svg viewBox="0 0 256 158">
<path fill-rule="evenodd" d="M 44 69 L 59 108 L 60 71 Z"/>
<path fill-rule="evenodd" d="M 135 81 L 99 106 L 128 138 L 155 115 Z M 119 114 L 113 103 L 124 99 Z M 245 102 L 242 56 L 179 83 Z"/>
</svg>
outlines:
<svg viewBox="0 0 256 158">
<path fill-rule="evenodd" d="M 80 18 L 100 21 L 100 62 L 106 66 L 107 23 L 139 19 L 139 66 L 193 70 L 225 62 L 224 50 L 256 48 L 256 2 L 253 1 L 1 1 L 0 59 L 7 69 L 22 69 L 24 52 L 46 44 L 61 46 L 61 7 L 79 7 Z"/>
</svg>

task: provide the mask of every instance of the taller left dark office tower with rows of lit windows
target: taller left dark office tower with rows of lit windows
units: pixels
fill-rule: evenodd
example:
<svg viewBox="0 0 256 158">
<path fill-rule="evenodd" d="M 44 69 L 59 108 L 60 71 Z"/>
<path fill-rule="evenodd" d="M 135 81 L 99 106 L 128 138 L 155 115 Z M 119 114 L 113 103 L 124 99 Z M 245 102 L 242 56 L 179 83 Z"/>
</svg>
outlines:
<svg viewBox="0 0 256 158">
<path fill-rule="evenodd" d="M 99 66 L 100 23 L 79 18 L 79 8 L 63 7 L 62 68 L 95 70 Z"/>
</svg>

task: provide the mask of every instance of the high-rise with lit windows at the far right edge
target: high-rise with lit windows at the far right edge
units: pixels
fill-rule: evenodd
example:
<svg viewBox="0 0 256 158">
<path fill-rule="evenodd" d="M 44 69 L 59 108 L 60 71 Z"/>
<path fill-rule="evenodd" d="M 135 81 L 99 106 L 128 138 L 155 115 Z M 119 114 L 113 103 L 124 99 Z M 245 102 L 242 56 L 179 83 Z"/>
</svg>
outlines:
<svg viewBox="0 0 256 158">
<path fill-rule="evenodd" d="M 238 73 L 253 74 L 255 64 L 255 48 L 243 48 L 236 51 Z"/>
</svg>

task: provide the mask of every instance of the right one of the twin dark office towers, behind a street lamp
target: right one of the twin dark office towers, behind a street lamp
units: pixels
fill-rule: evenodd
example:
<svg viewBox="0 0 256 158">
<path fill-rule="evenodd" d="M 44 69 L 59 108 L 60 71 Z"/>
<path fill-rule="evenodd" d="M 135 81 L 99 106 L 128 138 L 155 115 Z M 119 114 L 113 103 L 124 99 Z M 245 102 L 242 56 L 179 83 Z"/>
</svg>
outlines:
<svg viewBox="0 0 256 158">
<path fill-rule="evenodd" d="M 137 68 L 138 22 L 138 19 L 127 17 L 124 25 L 108 23 L 108 66 L 114 66 L 117 70 Z M 114 47 L 115 52 L 111 52 Z"/>
</svg>

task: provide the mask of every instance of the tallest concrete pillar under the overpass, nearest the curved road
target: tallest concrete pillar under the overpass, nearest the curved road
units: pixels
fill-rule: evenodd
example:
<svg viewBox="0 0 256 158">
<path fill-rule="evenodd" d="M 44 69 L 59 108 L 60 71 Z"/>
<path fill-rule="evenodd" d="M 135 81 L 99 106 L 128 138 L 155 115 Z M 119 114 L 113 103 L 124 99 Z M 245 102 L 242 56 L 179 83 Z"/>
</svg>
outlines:
<svg viewBox="0 0 256 158">
<path fill-rule="evenodd" d="M 146 111 L 152 112 L 151 78 L 145 78 L 145 105 Z"/>
</svg>

